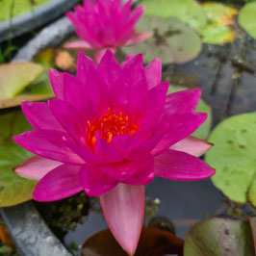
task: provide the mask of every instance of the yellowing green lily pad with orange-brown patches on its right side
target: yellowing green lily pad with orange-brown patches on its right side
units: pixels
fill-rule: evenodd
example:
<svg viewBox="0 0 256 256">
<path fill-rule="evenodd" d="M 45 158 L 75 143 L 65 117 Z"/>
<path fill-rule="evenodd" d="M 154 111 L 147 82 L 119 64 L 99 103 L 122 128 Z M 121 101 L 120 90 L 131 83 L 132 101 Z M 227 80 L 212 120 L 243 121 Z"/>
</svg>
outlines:
<svg viewBox="0 0 256 256">
<path fill-rule="evenodd" d="M 207 16 L 207 24 L 197 32 L 202 36 L 203 42 L 222 44 L 236 38 L 234 29 L 228 26 L 235 22 L 234 16 L 238 13 L 236 9 L 214 2 L 206 2 L 202 8 Z"/>
</svg>

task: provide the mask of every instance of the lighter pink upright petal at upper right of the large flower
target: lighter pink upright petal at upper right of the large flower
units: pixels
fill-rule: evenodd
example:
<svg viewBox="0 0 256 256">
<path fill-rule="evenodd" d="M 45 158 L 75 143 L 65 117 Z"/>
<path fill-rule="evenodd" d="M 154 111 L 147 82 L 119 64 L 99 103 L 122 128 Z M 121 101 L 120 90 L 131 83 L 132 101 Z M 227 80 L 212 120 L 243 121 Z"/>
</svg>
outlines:
<svg viewBox="0 0 256 256">
<path fill-rule="evenodd" d="M 144 70 L 149 90 L 161 83 L 162 63 L 160 59 L 155 59 L 151 64 L 148 64 Z"/>
</svg>

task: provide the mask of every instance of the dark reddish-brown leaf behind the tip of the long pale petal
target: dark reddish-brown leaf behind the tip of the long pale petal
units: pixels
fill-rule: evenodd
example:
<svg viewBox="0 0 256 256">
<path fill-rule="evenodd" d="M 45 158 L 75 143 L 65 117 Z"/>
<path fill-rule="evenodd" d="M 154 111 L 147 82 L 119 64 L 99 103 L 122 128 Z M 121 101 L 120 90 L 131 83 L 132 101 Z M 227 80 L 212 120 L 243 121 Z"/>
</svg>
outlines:
<svg viewBox="0 0 256 256">
<path fill-rule="evenodd" d="M 170 232 L 153 227 L 143 227 L 141 231 L 141 239 L 135 256 L 162 254 L 175 254 L 182 256 L 183 245 L 183 240 Z M 105 229 L 91 236 L 83 244 L 81 255 L 127 256 L 127 253 L 124 252 L 120 245 L 115 241 L 110 230 Z"/>
</svg>

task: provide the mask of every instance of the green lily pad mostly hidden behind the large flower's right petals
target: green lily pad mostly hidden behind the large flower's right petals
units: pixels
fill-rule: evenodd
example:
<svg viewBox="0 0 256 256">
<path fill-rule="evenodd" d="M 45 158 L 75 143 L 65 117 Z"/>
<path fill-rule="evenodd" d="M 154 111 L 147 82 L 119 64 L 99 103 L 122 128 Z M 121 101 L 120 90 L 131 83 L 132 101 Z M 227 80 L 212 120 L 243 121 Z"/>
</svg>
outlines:
<svg viewBox="0 0 256 256">
<path fill-rule="evenodd" d="M 172 93 L 180 90 L 187 90 L 187 88 L 169 86 L 167 93 Z M 192 136 L 199 138 L 201 140 L 206 140 L 208 138 L 212 126 L 212 109 L 209 105 L 205 103 L 203 99 L 200 99 L 198 106 L 196 108 L 196 112 L 207 113 L 208 118 L 195 132 L 192 133 Z"/>
</svg>

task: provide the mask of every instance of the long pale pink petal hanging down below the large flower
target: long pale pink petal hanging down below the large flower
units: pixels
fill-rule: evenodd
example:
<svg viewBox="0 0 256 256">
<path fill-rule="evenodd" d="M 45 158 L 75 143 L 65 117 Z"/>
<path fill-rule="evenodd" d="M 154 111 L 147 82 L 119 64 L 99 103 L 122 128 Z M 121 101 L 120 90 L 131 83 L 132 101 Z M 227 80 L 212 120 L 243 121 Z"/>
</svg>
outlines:
<svg viewBox="0 0 256 256">
<path fill-rule="evenodd" d="M 144 186 L 121 183 L 100 196 L 104 216 L 115 240 L 129 255 L 135 254 L 141 236 L 144 200 Z"/>
</svg>

